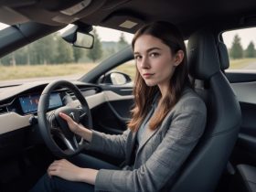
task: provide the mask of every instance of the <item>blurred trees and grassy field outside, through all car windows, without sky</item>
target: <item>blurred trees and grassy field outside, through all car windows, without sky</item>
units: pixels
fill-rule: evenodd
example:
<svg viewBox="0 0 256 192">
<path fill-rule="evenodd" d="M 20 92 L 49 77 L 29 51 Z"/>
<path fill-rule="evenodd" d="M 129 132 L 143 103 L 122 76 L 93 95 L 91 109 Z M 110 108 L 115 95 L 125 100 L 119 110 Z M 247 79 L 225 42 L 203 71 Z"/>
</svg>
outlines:
<svg viewBox="0 0 256 192">
<path fill-rule="evenodd" d="M 125 48 L 129 43 L 123 33 L 119 41 L 101 41 L 96 30 L 93 30 L 94 47 L 92 49 L 74 48 L 65 42 L 59 33 L 44 37 L 26 48 L 0 59 L 0 80 L 18 80 L 45 77 L 75 77 L 80 78 L 87 71 L 94 68 L 102 59 Z M 251 41 L 243 49 L 240 37 L 233 38 L 229 48 L 229 69 L 256 69 L 256 50 Z M 119 67 L 132 78 L 134 77 L 133 61 Z"/>
</svg>

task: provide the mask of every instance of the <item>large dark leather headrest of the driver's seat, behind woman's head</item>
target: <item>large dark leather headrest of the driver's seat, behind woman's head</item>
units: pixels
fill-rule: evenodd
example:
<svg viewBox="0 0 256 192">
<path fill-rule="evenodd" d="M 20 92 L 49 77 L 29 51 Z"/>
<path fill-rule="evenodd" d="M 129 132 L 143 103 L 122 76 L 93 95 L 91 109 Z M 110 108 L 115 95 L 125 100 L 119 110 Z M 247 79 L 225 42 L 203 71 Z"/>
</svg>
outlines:
<svg viewBox="0 0 256 192">
<path fill-rule="evenodd" d="M 190 75 L 208 80 L 219 71 L 219 53 L 213 34 L 208 29 L 198 30 L 188 39 L 187 60 Z"/>
</svg>

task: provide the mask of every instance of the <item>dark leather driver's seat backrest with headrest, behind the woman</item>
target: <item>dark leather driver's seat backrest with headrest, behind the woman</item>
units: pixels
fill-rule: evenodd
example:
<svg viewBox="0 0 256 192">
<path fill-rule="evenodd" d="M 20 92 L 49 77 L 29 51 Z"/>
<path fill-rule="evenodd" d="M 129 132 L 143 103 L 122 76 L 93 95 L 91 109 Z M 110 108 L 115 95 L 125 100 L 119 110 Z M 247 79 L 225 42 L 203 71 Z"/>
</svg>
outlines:
<svg viewBox="0 0 256 192">
<path fill-rule="evenodd" d="M 206 101 L 208 120 L 205 133 L 181 167 L 172 192 L 214 191 L 237 140 L 240 104 L 220 69 L 220 62 L 227 62 L 227 52 L 218 47 L 208 29 L 201 29 L 188 39 L 189 74 L 199 82 L 196 91 Z"/>
</svg>

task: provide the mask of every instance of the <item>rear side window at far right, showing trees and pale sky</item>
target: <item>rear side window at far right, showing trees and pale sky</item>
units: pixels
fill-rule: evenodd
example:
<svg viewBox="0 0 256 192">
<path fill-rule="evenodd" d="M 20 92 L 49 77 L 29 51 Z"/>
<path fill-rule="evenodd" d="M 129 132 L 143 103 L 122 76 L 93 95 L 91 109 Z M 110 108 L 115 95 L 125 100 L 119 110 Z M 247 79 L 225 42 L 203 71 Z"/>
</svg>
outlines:
<svg viewBox="0 0 256 192">
<path fill-rule="evenodd" d="M 227 31 L 222 34 L 229 50 L 229 69 L 256 70 L 256 27 Z"/>
</svg>

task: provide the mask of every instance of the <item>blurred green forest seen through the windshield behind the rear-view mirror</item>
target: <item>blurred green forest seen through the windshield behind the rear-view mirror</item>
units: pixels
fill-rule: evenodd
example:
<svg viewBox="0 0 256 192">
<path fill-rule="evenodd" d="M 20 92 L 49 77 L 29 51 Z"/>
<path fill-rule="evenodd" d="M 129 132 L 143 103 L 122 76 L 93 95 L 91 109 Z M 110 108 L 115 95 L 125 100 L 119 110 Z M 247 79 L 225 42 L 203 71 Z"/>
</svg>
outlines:
<svg viewBox="0 0 256 192">
<path fill-rule="evenodd" d="M 4 58 L 0 59 L 0 65 L 95 63 L 128 46 L 123 33 L 121 33 L 118 42 L 101 41 L 96 29 L 92 31 L 92 35 L 94 36 L 93 48 L 87 49 L 73 47 L 63 40 L 59 32 L 57 32 L 6 55 Z"/>
</svg>

